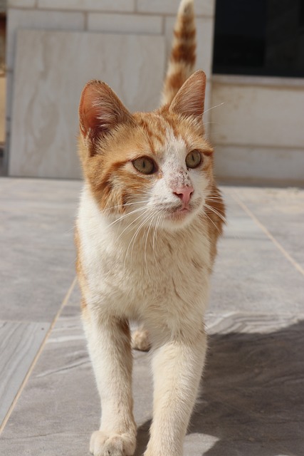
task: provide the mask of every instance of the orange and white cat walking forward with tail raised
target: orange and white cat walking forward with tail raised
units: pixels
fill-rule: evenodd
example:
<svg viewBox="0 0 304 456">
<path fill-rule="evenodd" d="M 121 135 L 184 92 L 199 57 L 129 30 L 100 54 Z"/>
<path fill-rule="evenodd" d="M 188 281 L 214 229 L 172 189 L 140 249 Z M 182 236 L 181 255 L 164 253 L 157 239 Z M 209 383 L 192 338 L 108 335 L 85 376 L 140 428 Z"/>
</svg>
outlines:
<svg viewBox="0 0 304 456">
<path fill-rule="evenodd" d="M 131 114 L 110 87 L 80 98 L 85 184 L 75 229 L 88 350 L 102 404 L 95 456 L 131 456 L 132 346 L 152 350 L 145 456 L 182 455 L 206 354 L 204 311 L 224 202 L 204 133 L 206 76 L 192 74 L 192 0 L 182 0 L 162 104 Z M 129 321 L 142 326 L 131 338 Z"/>
</svg>

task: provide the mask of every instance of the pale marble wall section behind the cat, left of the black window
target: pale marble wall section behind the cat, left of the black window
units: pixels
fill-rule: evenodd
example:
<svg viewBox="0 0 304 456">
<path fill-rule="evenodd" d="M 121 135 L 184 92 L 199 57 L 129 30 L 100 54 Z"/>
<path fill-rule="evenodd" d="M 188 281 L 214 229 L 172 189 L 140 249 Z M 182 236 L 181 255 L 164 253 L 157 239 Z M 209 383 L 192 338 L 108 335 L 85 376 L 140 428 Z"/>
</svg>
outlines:
<svg viewBox="0 0 304 456">
<path fill-rule="evenodd" d="M 130 110 L 157 107 L 177 0 L 8 0 L 9 175 L 80 176 L 80 91 L 91 78 Z M 196 1 L 197 68 L 211 77 L 214 0 Z M 211 84 L 208 84 L 206 109 Z M 209 120 L 209 111 L 206 113 Z"/>
</svg>

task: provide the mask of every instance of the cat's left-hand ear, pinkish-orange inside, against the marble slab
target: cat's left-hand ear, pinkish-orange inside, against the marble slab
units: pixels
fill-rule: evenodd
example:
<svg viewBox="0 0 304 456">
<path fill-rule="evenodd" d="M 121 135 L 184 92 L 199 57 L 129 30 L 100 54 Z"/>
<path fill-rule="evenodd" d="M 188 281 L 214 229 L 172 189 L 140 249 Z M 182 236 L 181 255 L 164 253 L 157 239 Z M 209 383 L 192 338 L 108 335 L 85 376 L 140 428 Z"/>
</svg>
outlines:
<svg viewBox="0 0 304 456">
<path fill-rule="evenodd" d="M 80 96 L 79 123 L 86 142 L 93 145 L 118 124 L 132 121 L 132 115 L 108 84 L 90 81 L 85 85 Z M 90 149 L 93 152 L 93 148 Z"/>
</svg>

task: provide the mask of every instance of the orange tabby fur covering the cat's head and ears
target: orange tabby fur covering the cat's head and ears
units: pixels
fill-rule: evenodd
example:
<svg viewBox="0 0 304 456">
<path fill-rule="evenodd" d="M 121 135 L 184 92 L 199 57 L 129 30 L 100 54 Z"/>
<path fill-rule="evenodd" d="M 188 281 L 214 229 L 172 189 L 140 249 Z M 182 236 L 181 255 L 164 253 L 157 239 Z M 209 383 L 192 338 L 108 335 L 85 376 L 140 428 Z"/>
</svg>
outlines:
<svg viewBox="0 0 304 456">
<path fill-rule="evenodd" d="M 197 81 L 196 81 L 197 80 Z M 82 160 L 85 179 L 100 209 L 115 207 L 117 212 L 124 212 L 125 204 L 132 202 L 134 195 L 140 195 L 153 185 L 154 180 L 161 177 L 156 175 L 139 175 L 127 164 L 137 156 L 145 155 L 162 159 L 165 153 L 167 130 L 172 129 L 176 138 L 182 138 L 189 151 L 201 150 L 208 157 L 202 172 L 210 181 L 212 192 L 217 201 L 210 201 L 211 207 L 219 211 L 209 214 L 209 229 L 221 234 L 224 218 L 224 205 L 220 201 L 219 190 L 216 189 L 213 177 L 213 149 L 204 138 L 204 125 L 201 121 L 204 110 L 204 73 L 196 72 L 184 85 L 184 93 L 177 94 L 171 104 L 167 104 L 152 113 L 135 113 L 131 115 L 117 99 L 115 93 L 100 81 L 90 81 L 83 90 L 80 100 L 80 158 Z M 103 93 L 105 90 L 105 93 Z M 188 91 L 193 91 L 191 96 Z M 200 96 L 198 91 L 201 90 Z M 95 97 L 95 98 L 94 98 Z M 93 105 L 93 117 L 88 123 L 88 103 Z M 100 103 L 100 108 L 98 108 Z M 110 133 L 103 127 L 98 129 L 97 119 L 104 115 L 106 103 L 106 120 L 114 119 L 110 124 Z M 111 104 L 112 103 L 112 104 Z M 108 113 L 112 107 L 112 113 Z M 98 109 L 102 110 L 99 113 Z M 191 115 L 187 116 L 187 110 Z M 83 119 L 86 118 L 86 126 Z M 119 119 L 119 120 L 117 120 Z M 101 130 L 101 131 L 100 131 Z M 222 218 L 221 218 L 222 217 Z M 217 236 L 215 236 L 217 239 Z"/>
</svg>

